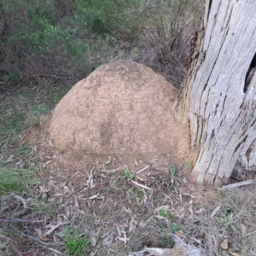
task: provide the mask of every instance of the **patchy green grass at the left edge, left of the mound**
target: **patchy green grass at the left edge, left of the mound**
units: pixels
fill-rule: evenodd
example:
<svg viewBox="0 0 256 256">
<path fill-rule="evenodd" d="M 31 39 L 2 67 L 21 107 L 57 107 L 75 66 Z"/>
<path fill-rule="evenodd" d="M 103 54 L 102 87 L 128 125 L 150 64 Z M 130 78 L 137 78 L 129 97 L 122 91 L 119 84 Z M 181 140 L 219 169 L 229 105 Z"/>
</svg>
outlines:
<svg viewBox="0 0 256 256">
<path fill-rule="evenodd" d="M 35 177 L 38 168 L 32 164 L 32 148 L 29 142 L 20 136 L 20 132 L 32 126 L 41 126 L 42 114 L 54 108 L 69 89 L 54 88 L 47 84 L 42 87 L 36 90 L 22 90 L 19 94 L 6 96 L 1 102 L 0 195 L 20 192 L 26 190 L 27 184 L 39 183 Z M 20 160 L 25 163 L 22 169 L 16 167 Z"/>
</svg>

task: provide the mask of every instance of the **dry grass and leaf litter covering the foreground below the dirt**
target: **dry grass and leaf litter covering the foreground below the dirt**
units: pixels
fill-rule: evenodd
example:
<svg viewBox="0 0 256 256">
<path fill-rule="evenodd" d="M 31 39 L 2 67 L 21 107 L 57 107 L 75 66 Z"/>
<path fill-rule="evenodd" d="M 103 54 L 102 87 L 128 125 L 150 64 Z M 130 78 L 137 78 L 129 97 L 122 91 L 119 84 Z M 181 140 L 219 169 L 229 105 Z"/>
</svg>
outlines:
<svg viewBox="0 0 256 256">
<path fill-rule="evenodd" d="M 150 191 L 123 178 L 123 170 L 103 171 L 94 169 L 90 177 L 84 173 L 88 183 L 79 188 L 73 181 L 81 178 L 80 173 L 56 175 L 19 195 L 2 196 L 1 233 L 20 252 L 54 255 L 53 251 L 64 252 L 61 234 L 67 226 L 79 236 L 88 234 L 88 249 L 94 255 L 128 255 L 143 247 L 172 247 L 168 234 L 178 226 L 189 243 L 202 242 L 205 255 L 225 255 L 219 247 L 224 238 L 229 240 L 231 252 L 255 254 L 255 187 L 221 192 L 217 200 L 201 204 L 184 198 L 181 205 L 179 196 L 166 186 L 167 177 L 165 181 L 164 176 L 152 174 L 152 182 L 146 183 Z M 189 201 L 194 202 L 193 214 Z M 236 231 L 220 220 L 229 215 Z M 13 255 L 7 242 L 1 249 L 3 255 Z"/>
</svg>

